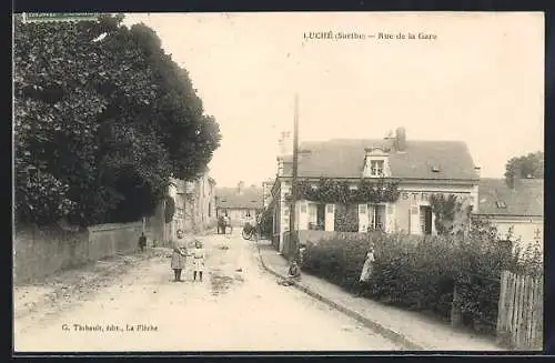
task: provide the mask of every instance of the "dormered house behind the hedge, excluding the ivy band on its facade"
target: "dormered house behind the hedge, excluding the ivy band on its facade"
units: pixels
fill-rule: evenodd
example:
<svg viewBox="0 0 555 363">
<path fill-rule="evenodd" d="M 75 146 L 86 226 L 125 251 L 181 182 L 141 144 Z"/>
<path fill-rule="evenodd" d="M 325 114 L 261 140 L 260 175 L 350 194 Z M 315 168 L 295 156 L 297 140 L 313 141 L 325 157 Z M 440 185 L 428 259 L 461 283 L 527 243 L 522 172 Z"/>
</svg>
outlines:
<svg viewBox="0 0 555 363">
<path fill-rule="evenodd" d="M 289 134 L 284 133 L 282 139 Z M 273 214 L 274 244 L 283 248 L 289 231 L 292 157 L 280 140 L 278 175 L 272 199 L 265 211 Z M 454 194 L 476 210 L 480 169 L 475 167 L 462 141 L 411 141 L 405 130 L 377 140 L 330 140 L 300 144 L 297 177 L 317 188 L 319 179 L 347 182 L 356 188 L 361 180 L 398 182 L 400 198 L 394 202 L 371 201 L 347 205 L 352 226 L 359 232 L 369 229 L 411 234 L 435 233 L 435 216 L 430 205 L 432 194 Z M 295 210 L 296 229 L 335 231 L 335 214 L 340 205 L 314 200 L 299 200 Z M 343 206 L 341 206 L 343 208 Z"/>
</svg>

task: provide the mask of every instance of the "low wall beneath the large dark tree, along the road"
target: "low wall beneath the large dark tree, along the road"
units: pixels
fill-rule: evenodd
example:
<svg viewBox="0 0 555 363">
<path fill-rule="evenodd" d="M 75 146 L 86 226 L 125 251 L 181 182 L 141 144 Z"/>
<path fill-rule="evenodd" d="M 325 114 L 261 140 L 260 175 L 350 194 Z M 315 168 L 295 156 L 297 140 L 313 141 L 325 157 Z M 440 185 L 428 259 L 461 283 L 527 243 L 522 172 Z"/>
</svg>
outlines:
<svg viewBox="0 0 555 363">
<path fill-rule="evenodd" d="M 41 279 L 57 271 L 137 250 L 142 222 L 93 225 L 67 231 L 58 225 L 21 226 L 13 238 L 13 282 Z"/>
</svg>

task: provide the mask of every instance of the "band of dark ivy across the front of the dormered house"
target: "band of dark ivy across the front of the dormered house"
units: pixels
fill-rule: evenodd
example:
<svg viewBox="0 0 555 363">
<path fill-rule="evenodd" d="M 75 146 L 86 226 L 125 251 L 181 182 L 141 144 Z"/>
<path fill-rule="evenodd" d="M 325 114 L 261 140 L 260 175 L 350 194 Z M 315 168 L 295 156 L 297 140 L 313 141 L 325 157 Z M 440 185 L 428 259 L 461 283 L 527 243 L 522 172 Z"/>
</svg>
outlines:
<svg viewBox="0 0 555 363">
<path fill-rule="evenodd" d="M 398 199 L 398 182 L 379 179 L 361 180 L 353 184 L 321 178 L 316 183 L 307 179 L 296 184 L 297 200 L 333 204 L 392 203 Z M 291 201 L 291 196 L 287 196 Z"/>
</svg>

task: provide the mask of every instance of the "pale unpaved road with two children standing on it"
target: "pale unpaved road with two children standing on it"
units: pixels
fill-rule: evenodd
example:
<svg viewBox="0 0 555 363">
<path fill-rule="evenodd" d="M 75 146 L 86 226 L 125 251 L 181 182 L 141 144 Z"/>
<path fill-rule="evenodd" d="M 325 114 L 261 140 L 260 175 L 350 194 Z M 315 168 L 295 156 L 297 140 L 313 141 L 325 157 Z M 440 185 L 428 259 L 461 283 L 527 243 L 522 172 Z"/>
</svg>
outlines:
<svg viewBox="0 0 555 363">
<path fill-rule="evenodd" d="M 172 282 L 163 254 L 144 260 L 61 313 L 17 317 L 16 352 L 401 350 L 279 285 L 260 265 L 253 242 L 239 235 L 201 240 L 208 253 L 203 282 L 193 282 L 190 271 L 185 282 Z"/>
</svg>

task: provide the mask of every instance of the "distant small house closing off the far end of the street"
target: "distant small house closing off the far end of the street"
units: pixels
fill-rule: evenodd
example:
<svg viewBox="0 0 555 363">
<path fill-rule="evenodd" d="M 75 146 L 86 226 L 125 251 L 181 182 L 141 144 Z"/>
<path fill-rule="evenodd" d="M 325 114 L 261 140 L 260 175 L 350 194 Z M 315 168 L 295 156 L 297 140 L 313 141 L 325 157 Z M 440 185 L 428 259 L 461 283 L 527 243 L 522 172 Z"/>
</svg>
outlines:
<svg viewBox="0 0 555 363">
<path fill-rule="evenodd" d="M 234 226 L 243 226 L 246 222 L 254 224 L 262 209 L 263 190 L 260 186 L 245 186 L 240 182 L 236 188 L 216 189 L 216 216 L 229 216 Z"/>
</svg>

